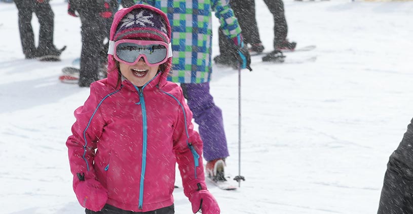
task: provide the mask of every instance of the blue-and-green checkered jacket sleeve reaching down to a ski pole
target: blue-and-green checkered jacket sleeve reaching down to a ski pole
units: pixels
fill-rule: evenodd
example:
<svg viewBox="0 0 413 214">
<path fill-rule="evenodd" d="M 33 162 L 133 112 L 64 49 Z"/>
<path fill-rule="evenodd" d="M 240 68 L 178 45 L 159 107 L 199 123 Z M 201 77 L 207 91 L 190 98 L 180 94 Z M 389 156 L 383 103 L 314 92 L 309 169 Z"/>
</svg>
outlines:
<svg viewBox="0 0 413 214">
<path fill-rule="evenodd" d="M 219 19 L 222 32 L 230 38 L 236 37 L 241 33 L 237 17 L 231 9 L 228 0 L 211 0 L 212 9 L 215 11 L 216 18 Z"/>
</svg>

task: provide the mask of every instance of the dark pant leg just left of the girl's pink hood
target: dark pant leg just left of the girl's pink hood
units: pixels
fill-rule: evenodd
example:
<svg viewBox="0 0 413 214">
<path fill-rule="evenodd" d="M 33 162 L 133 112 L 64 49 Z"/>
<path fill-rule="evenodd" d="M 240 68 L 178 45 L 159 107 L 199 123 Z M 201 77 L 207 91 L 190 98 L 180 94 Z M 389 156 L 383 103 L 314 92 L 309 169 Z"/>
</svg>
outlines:
<svg viewBox="0 0 413 214">
<path fill-rule="evenodd" d="M 89 3 L 89 4 L 87 4 Z M 99 16 L 98 7 L 93 1 L 85 1 L 76 7 L 82 22 L 82 53 L 80 65 L 80 86 L 89 86 L 98 80 L 98 66 L 101 60 L 104 20 Z"/>
</svg>

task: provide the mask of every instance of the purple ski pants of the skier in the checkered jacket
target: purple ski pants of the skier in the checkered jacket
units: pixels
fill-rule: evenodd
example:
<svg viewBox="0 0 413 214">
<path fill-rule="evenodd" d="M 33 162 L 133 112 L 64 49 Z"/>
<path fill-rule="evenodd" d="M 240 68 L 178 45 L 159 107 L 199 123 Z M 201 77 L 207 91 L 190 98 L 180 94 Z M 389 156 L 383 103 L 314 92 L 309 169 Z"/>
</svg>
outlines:
<svg viewBox="0 0 413 214">
<path fill-rule="evenodd" d="M 209 82 L 181 83 L 181 88 L 195 123 L 199 125 L 199 134 L 204 143 L 204 158 L 212 161 L 228 157 L 230 154 L 223 129 L 222 111 L 209 93 Z"/>
</svg>

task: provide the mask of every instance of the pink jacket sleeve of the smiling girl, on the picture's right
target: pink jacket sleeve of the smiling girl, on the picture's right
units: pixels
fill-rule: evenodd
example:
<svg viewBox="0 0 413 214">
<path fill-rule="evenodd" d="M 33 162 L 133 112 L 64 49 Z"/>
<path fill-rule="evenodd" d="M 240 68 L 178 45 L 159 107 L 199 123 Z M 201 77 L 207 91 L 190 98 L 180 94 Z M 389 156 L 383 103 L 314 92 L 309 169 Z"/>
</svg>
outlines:
<svg viewBox="0 0 413 214">
<path fill-rule="evenodd" d="M 180 89 L 179 102 L 180 110 L 173 133 L 173 143 L 182 177 L 183 192 L 191 198 L 194 192 L 207 189 L 202 164 L 202 140 L 194 130 L 192 112 L 183 98 L 182 89 Z"/>
</svg>

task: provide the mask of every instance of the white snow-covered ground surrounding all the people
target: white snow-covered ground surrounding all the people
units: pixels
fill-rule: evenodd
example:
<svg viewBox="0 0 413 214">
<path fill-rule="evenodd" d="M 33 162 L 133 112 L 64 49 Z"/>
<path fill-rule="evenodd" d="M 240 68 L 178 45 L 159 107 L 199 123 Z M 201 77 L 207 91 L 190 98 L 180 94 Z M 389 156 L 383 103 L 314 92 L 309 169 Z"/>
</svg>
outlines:
<svg viewBox="0 0 413 214">
<path fill-rule="evenodd" d="M 66 14 L 63 0 L 51 4 L 55 44 L 67 45 L 58 63 L 24 60 L 17 9 L 0 3 L 1 213 L 84 213 L 65 141 L 89 89 L 57 79 L 80 55 L 80 20 Z M 272 16 L 263 1 L 256 8 L 269 51 Z M 246 181 L 237 191 L 210 191 L 222 213 L 375 213 L 388 157 L 413 116 L 413 2 L 288 0 L 285 10 L 290 40 L 317 48 L 288 53 L 286 64 L 253 57 L 241 86 Z M 217 27 L 214 18 L 215 35 Z M 213 45 L 215 56 L 216 37 Z M 213 69 L 232 154 L 227 172 L 235 176 L 238 75 Z M 192 213 L 182 188 L 174 195 L 176 213 Z"/>
</svg>

